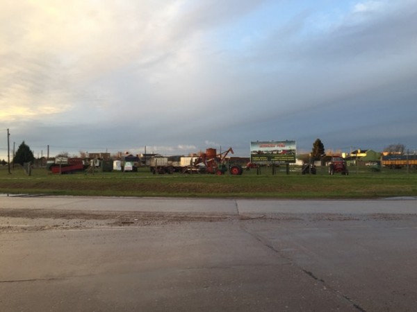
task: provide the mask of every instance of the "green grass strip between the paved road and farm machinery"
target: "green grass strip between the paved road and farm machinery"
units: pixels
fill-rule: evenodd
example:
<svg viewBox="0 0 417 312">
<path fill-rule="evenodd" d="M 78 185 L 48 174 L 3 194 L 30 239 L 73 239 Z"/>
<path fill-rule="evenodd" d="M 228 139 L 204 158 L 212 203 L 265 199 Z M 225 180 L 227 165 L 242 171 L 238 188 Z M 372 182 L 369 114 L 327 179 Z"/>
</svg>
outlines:
<svg viewBox="0 0 417 312">
<path fill-rule="evenodd" d="M 31 176 L 15 167 L 0 168 L 0 193 L 24 193 L 72 196 L 139 196 L 190 198 L 384 198 L 417 196 L 417 171 L 371 172 L 369 168 L 350 168 L 350 175 L 330 176 L 327 168 L 317 175 L 301 175 L 291 168 L 286 175 L 280 168 L 245 171 L 243 175 L 153 175 L 147 168 L 137 173 L 74 173 L 53 175 L 35 168 Z"/>
</svg>

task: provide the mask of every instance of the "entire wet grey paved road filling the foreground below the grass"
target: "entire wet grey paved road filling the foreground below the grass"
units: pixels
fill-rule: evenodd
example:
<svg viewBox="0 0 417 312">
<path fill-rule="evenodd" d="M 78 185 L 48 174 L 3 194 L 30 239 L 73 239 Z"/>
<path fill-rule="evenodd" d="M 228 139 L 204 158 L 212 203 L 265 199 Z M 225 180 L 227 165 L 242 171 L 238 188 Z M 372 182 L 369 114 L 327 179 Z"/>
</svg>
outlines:
<svg viewBox="0 0 417 312">
<path fill-rule="evenodd" d="M 0 213 L 1 311 L 417 307 L 415 198 L 1 197 Z"/>
</svg>

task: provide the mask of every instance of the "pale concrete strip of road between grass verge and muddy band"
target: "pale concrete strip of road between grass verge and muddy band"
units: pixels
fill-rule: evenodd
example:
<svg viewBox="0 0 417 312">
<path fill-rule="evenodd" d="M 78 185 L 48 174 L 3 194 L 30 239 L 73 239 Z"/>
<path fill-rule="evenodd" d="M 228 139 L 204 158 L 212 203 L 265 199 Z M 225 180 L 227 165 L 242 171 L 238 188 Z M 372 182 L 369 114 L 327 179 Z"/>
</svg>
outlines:
<svg viewBox="0 0 417 312">
<path fill-rule="evenodd" d="M 417 198 L 386 200 L 250 200 L 2 196 L 0 208 L 206 213 L 415 214 Z"/>
</svg>

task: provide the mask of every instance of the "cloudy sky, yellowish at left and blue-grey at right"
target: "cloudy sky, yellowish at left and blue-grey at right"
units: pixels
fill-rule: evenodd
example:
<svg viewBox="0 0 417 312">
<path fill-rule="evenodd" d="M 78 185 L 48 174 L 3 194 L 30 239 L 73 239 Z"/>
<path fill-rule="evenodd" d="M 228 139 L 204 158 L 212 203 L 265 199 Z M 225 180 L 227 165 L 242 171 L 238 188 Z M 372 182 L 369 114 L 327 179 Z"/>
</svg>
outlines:
<svg viewBox="0 0 417 312">
<path fill-rule="evenodd" d="M 0 0 L 0 158 L 417 150 L 417 0 Z"/>
</svg>

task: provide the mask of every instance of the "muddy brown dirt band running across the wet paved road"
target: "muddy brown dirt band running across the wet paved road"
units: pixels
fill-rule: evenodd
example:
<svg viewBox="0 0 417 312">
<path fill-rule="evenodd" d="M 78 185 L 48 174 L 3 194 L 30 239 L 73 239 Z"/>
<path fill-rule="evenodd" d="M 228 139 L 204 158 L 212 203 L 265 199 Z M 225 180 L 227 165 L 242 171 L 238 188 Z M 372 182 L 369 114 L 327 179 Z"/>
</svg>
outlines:
<svg viewBox="0 0 417 312">
<path fill-rule="evenodd" d="M 190 222 L 274 222 L 320 223 L 368 220 L 415 220 L 409 214 L 240 214 L 222 213 L 165 213 L 146 211 L 57 211 L 48 209 L 0 209 L 1 232 L 28 232 L 65 229 L 92 229 L 105 227 L 147 227 L 179 225 Z"/>
</svg>

